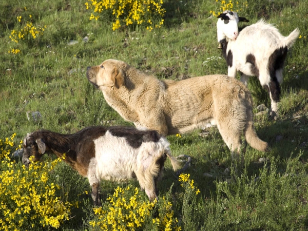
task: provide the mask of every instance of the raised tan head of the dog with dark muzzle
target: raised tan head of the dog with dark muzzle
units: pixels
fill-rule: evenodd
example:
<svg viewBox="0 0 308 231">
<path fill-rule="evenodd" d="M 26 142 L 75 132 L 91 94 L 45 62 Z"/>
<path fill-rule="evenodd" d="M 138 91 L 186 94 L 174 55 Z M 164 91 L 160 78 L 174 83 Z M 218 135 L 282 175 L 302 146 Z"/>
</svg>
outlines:
<svg viewBox="0 0 308 231">
<path fill-rule="evenodd" d="M 96 88 L 124 85 L 124 72 L 128 65 L 118 60 L 106 60 L 101 65 L 87 68 L 87 78 Z"/>
</svg>

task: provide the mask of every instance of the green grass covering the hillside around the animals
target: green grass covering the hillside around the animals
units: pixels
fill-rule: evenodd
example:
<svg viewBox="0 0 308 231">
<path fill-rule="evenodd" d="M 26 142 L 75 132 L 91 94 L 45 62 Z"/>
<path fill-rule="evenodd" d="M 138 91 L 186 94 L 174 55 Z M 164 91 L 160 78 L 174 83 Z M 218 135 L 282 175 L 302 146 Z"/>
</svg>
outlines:
<svg viewBox="0 0 308 231">
<path fill-rule="evenodd" d="M 205 74 L 227 73 L 221 50 L 217 49 L 215 17 L 219 2 L 164 1 L 165 24 L 152 32 L 145 28 L 123 28 L 112 31 L 110 15 L 90 21 L 85 1 L 8 1 L 0 3 L 0 139 L 17 133 L 17 140 L 27 132 L 44 128 L 72 133 L 91 125 L 128 125 L 110 108 L 102 92 L 95 90 L 86 78 L 86 67 L 106 59 L 118 59 L 160 79 L 179 80 Z M 181 186 L 172 174 L 169 162 L 159 183 L 160 197 L 172 185 L 175 217 L 183 230 L 307 230 L 307 161 L 308 161 L 308 25 L 307 1 L 248 1 L 240 13 L 250 23 L 261 17 L 275 24 L 286 36 L 296 27 L 299 38 L 287 56 L 280 103 L 281 117 L 268 121 L 266 115 L 255 117 L 259 137 L 268 142 L 271 151 L 262 153 L 245 146 L 244 167 L 237 163 L 216 128 L 207 137 L 200 130 L 170 136 L 172 155 L 189 155 L 190 174 L 201 191 L 196 201 L 183 207 Z M 27 11 L 24 8 L 27 7 Z M 16 47 L 9 35 L 18 29 L 17 16 L 32 15 L 33 23 L 47 28 L 37 40 L 22 41 L 21 53 L 8 53 Z M 250 24 L 249 23 L 249 24 Z M 88 36 L 89 42 L 82 39 Z M 304 37 L 305 36 L 305 37 Z M 71 40 L 78 44 L 68 45 Z M 207 61 L 207 58 L 215 59 Z M 268 94 L 251 78 L 249 90 L 256 107 L 268 107 Z M 42 119 L 28 121 L 27 111 L 40 111 Z M 277 136 L 282 136 L 277 140 Z M 304 143 L 306 145 L 304 145 Z M 259 162 L 260 158 L 266 162 Z M 225 172 L 228 168 L 230 171 Z M 0 163 L 1 170 L 1 163 Z M 65 185 L 68 197 L 77 197 L 90 187 L 65 164 L 56 169 L 55 179 Z M 213 177 L 206 177 L 207 173 Z M 138 186 L 137 182 L 130 184 Z M 125 184 L 124 184 L 125 185 Z M 118 183 L 102 181 L 103 201 Z M 201 195 L 201 196 L 200 196 Z M 71 219 L 60 229 L 89 230 L 91 214 L 89 197 L 80 197 L 83 206 L 72 211 Z M 38 230 L 38 229 L 37 229 Z"/>
</svg>

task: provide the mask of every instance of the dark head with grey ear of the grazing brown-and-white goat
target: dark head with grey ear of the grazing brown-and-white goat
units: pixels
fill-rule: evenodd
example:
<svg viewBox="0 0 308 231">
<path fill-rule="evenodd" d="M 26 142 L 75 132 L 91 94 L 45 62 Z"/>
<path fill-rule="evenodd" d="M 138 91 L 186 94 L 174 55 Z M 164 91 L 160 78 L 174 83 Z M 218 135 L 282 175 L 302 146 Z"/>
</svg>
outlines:
<svg viewBox="0 0 308 231">
<path fill-rule="evenodd" d="M 29 165 L 31 156 L 34 156 L 34 161 L 38 161 L 45 153 L 46 145 L 42 139 L 35 139 L 31 134 L 27 134 L 24 139 L 23 164 Z"/>
</svg>

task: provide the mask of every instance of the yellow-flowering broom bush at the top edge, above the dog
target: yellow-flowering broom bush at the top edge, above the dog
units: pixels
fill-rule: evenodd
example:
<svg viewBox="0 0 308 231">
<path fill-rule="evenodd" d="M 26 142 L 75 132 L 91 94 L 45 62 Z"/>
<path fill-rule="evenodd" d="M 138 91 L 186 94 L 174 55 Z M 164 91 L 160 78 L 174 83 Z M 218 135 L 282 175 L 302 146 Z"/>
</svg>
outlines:
<svg viewBox="0 0 308 231">
<path fill-rule="evenodd" d="M 146 25 L 146 29 L 160 28 L 164 23 L 165 9 L 162 0 L 88 0 L 87 10 L 91 10 L 90 20 L 98 20 L 100 13 L 112 11 L 112 30 L 121 26 Z M 157 20 L 159 18 L 159 20 Z"/>
</svg>

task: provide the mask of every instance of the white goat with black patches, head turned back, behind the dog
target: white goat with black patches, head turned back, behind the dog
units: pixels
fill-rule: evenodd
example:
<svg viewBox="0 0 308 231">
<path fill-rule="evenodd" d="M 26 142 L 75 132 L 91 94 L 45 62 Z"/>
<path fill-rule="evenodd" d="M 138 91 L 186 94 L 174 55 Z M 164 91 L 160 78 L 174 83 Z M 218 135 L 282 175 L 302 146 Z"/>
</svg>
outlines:
<svg viewBox="0 0 308 231">
<path fill-rule="evenodd" d="M 257 76 L 271 98 L 270 117 L 277 119 L 280 84 L 288 49 L 298 38 L 296 28 L 284 37 L 279 30 L 263 20 L 245 27 L 239 33 L 238 23 L 248 22 L 236 12 L 224 11 L 218 16 L 217 38 L 228 65 L 228 75 L 235 78 L 241 72 L 241 81 L 247 85 L 249 76 Z"/>
</svg>

